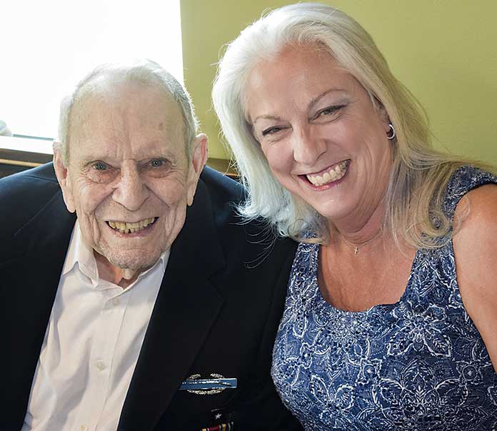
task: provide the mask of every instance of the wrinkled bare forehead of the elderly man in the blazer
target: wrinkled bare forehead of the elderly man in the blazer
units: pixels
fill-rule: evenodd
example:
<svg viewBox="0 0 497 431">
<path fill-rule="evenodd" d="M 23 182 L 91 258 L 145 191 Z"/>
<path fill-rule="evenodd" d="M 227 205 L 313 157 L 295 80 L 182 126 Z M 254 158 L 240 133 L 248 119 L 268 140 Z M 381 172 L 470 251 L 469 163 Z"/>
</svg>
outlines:
<svg viewBox="0 0 497 431">
<path fill-rule="evenodd" d="M 74 101 L 70 128 L 71 141 L 88 149 L 119 151 L 126 143 L 139 153 L 185 148 L 181 108 L 164 88 L 148 83 L 108 77 L 86 83 Z"/>
</svg>

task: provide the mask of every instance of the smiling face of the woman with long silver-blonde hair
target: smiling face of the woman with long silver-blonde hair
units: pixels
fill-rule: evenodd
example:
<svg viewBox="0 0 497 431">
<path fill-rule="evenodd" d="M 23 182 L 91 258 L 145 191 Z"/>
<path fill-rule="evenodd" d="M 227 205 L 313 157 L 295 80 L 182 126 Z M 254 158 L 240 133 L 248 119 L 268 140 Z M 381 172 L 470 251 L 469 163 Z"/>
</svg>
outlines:
<svg viewBox="0 0 497 431">
<path fill-rule="evenodd" d="M 329 54 L 288 46 L 253 69 L 245 95 L 253 135 L 288 191 L 332 223 L 360 224 L 378 211 L 391 166 L 388 118 Z"/>
</svg>

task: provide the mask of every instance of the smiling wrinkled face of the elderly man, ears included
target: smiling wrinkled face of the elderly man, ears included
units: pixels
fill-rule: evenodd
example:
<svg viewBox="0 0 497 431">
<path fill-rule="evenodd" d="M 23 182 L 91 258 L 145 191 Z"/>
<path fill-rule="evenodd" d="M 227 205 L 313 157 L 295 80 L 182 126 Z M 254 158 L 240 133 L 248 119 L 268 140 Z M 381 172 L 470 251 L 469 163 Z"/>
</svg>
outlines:
<svg viewBox="0 0 497 431">
<path fill-rule="evenodd" d="M 154 265 L 184 225 L 205 163 L 205 136 L 197 137 L 189 163 L 176 102 L 159 88 L 129 82 L 81 96 L 70 136 L 69 161 L 64 166 L 56 153 L 56 171 L 86 245 L 117 268 Z"/>
</svg>

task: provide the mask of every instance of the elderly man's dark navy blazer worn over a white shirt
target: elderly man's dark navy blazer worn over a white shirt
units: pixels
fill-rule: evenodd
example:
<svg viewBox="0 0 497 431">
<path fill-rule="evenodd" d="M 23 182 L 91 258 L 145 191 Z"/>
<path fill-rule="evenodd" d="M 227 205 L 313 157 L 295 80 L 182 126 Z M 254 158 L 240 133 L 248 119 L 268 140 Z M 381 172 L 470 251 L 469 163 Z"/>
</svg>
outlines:
<svg viewBox="0 0 497 431">
<path fill-rule="evenodd" d="M 146 330 L 119 431 L 201 430 L 219 412 L 235 430 L 301 430 L 276 394 L 271 350 L 295 252 L 262 223 L 241 223 L 235 181 L 205 168 Z M 20 430 L 76 216 L 51 163 L 0 180 L 0 430 Z M 6 358 L 5 358 L 6 356 Z M 217 373 L 238 387 L 179 390 Z M 116 415 L 119 412 L 116 412 Z"/>
</svg>

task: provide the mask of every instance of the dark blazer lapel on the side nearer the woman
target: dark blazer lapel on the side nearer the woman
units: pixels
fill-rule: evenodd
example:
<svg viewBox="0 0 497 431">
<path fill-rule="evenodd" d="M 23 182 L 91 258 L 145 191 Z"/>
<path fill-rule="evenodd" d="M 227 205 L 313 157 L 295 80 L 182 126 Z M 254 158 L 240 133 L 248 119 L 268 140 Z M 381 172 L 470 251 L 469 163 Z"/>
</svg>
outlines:
<svg viewBox="0 0 497 431">
<path fill-rule="evenodd" d="M 169 263 L 136 363 L 118 429 L 154 428 L 221 310 L 209 276 L 224 267 L 211 201 L 203 183 L 171 247 Z"/>
</svg>

